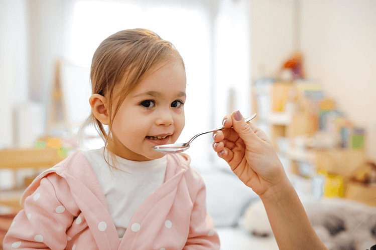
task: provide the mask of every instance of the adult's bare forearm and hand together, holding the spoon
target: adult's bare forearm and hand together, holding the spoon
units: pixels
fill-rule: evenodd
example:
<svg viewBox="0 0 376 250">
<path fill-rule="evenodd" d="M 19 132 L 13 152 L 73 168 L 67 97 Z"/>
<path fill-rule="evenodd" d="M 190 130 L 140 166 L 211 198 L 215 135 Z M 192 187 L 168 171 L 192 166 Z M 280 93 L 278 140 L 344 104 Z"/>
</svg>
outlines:
<svg viewBox="0 0 376 250">
<path fill-rule="evenodd" d="M 328 250 L 317 236 L 272 142 L 239 111 L 223 120 L 213 135 L 214 150 L 260 197 L 281 250 Z"/>
</svg>

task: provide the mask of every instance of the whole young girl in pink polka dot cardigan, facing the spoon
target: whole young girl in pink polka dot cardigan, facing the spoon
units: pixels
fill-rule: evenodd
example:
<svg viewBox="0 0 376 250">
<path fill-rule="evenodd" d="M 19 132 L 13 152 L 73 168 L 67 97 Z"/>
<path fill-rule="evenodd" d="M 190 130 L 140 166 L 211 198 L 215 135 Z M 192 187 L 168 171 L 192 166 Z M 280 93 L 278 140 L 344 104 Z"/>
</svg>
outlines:
<svg viewBox="0 0 376 250">
<path fill-rule="evenodd" d="M 90 78 L 89 120 L 105 147 L 75 152 L 33 181 L 4 249 L 219 249 L 190 158 L 152 149 L 184 127 L 178 51 L 151 31 L 120 31 L 95 51 Z"/>
</svg>

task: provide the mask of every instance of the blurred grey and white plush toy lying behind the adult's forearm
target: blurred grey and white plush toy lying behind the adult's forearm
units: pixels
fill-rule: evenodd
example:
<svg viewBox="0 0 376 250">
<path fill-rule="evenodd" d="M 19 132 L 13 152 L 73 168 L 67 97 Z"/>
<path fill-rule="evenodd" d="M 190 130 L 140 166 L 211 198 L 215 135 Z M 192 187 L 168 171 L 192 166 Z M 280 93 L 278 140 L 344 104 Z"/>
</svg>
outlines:
<svg viewBox="0 0 376 250">
<path fill-rule="evenodd" d="M 341 198 L 302 200 L 308 218 L 329 250 L 365 250 L 376 244 L 376 208 Z M 244 213 L 244 228 L 252 236 L 272 236 L 261 201 Z M 372 246 L 370 250 L 376 250 Z"/>
</svg>

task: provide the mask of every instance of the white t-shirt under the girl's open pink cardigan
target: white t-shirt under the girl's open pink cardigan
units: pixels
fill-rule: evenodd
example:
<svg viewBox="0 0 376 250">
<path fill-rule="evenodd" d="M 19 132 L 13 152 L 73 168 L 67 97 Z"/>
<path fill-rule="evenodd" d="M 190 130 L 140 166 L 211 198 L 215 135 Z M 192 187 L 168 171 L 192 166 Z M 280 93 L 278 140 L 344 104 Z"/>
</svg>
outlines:
<svg viewBox="0 0 376 250">
<path fill-rule="evenodd" d="M 116 156 L 118 165 L 115 166 L 118 170 L 108 166 L 104 160 L 103 147 L 89 150 L 84 155 L 98 178 L 106 197 L 108 213 L 121 240 L 141 203 L 164 183 L 166 156 L 150 161 L 131 161 Z M 104 155 L 107 158 L 107 150 Z"/>
</svg>

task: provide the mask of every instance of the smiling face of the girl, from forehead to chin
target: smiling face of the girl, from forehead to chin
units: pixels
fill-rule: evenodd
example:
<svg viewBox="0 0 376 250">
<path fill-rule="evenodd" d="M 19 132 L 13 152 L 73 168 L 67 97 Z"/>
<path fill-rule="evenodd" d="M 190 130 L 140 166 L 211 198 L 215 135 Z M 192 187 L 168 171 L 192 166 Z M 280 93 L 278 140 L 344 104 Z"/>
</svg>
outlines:
<svg viewBox="0 0 376 250">
<path fill-rule="evenodd" d="M 124 99 L 114 117 L 113 153 L 134 161 L 163 157 L 165 154 L 152 147 L 174 143 L 182 132 L 185 86 L 185 70 L 180 61 L 158 65 Z"/>
</svg>

